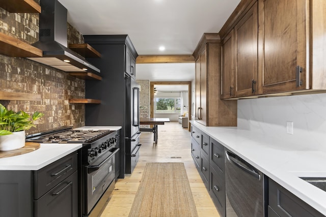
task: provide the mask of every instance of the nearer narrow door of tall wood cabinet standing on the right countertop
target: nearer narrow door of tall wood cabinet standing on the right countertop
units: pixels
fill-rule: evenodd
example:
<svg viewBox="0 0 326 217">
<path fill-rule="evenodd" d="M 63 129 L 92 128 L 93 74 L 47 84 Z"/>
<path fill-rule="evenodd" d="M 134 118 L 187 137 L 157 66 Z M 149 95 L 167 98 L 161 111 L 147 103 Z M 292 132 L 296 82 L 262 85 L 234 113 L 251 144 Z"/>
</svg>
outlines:
<svg viewBox="0 0 326 217">
<path fill-rule="evenodd" d="M 200 119 L 199 122 L 206 125 L 207 107 L 207 45 L 206 49 L 200 54 Z"/>
</svg>

